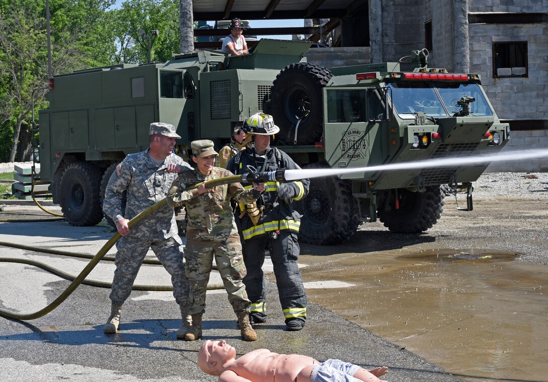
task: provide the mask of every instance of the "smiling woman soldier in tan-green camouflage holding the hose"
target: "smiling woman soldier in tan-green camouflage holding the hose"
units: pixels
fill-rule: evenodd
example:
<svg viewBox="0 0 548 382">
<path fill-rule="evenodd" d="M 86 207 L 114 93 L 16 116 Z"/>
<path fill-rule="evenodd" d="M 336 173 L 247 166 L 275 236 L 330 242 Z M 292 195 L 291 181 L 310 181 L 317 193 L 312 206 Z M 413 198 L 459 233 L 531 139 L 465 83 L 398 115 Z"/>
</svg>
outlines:
<svg viewBox="0 0 548 382">
<path fill-rule="evenodd" d="M 197 169 L 185 171 L 179 180 L 173 183 L 168 193 L 168 204 L 186 206 L 189 225 L 186 230 L 186 275 L 189 277 L 193 304 L 190 309 L 192 326 L 186 333 L 188 341 L 202 337 L 202 315 L 206 310 L 206 289 L 209 274 L 215 263 L 221 274 L 222 282 L 229 294 L 229 302 L 238 316 L 242 338 L 254 341 L 257 335 L 249 323 L 250 300 L 242 279 L 246 275 L 246 266 L 242 259 L 242 245 L 230 206 L 233 198 L 241 203 L 255 200 L 254 190 L 264 191 L 264 184 L 254 184 L 244 190 L 239 183 L 224 184 L 206 188 L 206 181 L 232 176 L 230 171 L 215 167 L 213 142 L 209 140 L 193 141 L 192 160 Z M 201 183 L 198 188 L 186 190 Z"/>
</svg>

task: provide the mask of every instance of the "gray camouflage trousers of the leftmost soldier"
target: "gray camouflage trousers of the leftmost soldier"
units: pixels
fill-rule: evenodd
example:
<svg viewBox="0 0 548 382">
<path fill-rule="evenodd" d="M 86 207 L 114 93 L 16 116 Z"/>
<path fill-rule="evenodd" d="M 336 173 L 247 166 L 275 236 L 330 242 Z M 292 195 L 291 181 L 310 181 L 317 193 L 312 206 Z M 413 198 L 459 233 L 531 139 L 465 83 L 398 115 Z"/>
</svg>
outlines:
<svg viewBox="0 0 548 382">
<path fill-rule="evenodd" d="M 182 263 L 182 250 L 174 238 L 165 240 L 143 240 L 135 236 L 122 236 L 116 243 L 116 270 L 112 280 L 110 299 L 122 305 L 132 292 L 133 282 L 141 268 L 149 248 L 156 254 L 165 270 L 172 276 L 173 297 L 181 308 L 189 306 L 189 279 Z"/>
</svg>

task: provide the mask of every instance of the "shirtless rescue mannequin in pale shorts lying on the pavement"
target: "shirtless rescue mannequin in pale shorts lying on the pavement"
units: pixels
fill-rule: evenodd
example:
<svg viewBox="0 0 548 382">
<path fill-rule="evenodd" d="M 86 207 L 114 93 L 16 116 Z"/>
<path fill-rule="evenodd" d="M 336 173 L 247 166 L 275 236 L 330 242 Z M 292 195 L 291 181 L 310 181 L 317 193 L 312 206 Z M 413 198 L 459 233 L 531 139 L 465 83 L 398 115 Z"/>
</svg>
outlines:
<svg viewBox="0 0 548 382">
<path fill-rule="evenodd" d="M 277 354 L 257 349 L 236 360 L 236 349 L 225 341 L 203 343 L 198 352 L 198 367 L 204 373 L 219 375 L 219 382 L 386 382 L 378 377 L 387 367 L 366 370 L 340 360 L 319 362 L 300 354 Z"/>
</svg>

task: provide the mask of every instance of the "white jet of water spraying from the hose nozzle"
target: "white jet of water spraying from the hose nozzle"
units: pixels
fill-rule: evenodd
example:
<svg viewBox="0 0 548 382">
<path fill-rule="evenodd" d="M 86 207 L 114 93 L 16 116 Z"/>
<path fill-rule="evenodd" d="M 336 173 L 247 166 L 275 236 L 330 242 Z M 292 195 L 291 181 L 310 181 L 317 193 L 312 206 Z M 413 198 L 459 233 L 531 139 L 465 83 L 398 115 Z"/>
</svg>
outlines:
<svg viewBox="0 0 548 382">
<path fill-rule="evenodd" d="M 499 161 L 517 161 L 527 159 L 539 159 L 548 157 L 548 149 L 513 151 L 507 153 L 477 155 L 475 157 L 452 157 L 420 160 L 415 162 L 390 163 L 378 166 L 358 167 L 352 169 L 303 169 L 286 170 L 284 177 L 287 181 L 294 181 L 305 178 L 319 178 L 323 176 L 341 175 L 353 172 L 375 172 L 375 171 L 394 171 L 410 169 L 429 169 L 433 167 L 455 167 L 463 165 L 473 165 L 479 163 L 490 163 Z"/>
</svg>

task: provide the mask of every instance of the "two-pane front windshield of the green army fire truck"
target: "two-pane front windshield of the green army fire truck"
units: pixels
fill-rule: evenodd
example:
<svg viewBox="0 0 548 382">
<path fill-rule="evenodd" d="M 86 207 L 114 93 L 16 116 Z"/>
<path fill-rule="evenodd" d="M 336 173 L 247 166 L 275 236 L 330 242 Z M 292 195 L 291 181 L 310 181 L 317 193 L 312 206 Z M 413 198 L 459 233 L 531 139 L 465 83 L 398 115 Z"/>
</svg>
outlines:
<svg viewBox="0 0 548 382">
<path fill-rule="evenodd" d="M 391 83 L 392 102 L 400 118 L 415 118 L 416 112 L 430 117 L 448 117 L 461 111 L 457 101 L 462 97 L 473 97 L 470 115 L 493 115 L 487 100 L 477 84 L 463 83 Z M 438 96 L 439 94 L 439 96 Z"/>
</svg>

